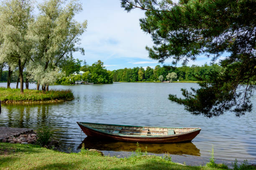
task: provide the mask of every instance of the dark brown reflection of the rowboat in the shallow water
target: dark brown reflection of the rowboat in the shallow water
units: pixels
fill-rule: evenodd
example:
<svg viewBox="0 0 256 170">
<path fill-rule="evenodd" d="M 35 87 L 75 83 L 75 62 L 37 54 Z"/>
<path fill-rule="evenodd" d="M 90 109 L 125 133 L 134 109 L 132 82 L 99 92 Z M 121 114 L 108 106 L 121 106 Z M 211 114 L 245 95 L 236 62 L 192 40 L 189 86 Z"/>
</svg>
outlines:
<svg viewBox="0 0 256 170">
<path fill-rule="evenodd" d="M 91 138 L 87 136 L 83 142 L 85 148 L 96 149 L 101 151 L 128 151 L 134 152 L 136 150 L 136 143 L 121 142 L 113 140 L 102 140 Z M 82 147 L 82 143 L 78 149 Z M 200 156 L 200 150 L 192 142 L 187 143 L 140 143 L 140 148 L 144 151 L 147 147 L 148 153 L 164 154 L 169 153 L 172 155 L 194 155 Z"/>
</svg>

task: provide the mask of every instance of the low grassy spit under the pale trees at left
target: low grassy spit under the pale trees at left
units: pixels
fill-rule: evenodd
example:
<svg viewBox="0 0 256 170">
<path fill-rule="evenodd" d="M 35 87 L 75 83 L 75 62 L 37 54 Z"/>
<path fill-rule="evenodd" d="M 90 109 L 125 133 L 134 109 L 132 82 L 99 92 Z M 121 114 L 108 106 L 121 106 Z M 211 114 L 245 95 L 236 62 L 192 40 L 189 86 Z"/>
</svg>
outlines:
<svg viewBox="0 0 256 170">
<path fill-rule="evenodd" d="M 61 102 L 72 99 L 71 90 L 24 90 L 24 94 L 21 94 L 20 89 L 0 87 L 0 100 L 3 103 Z"/>
</svg>

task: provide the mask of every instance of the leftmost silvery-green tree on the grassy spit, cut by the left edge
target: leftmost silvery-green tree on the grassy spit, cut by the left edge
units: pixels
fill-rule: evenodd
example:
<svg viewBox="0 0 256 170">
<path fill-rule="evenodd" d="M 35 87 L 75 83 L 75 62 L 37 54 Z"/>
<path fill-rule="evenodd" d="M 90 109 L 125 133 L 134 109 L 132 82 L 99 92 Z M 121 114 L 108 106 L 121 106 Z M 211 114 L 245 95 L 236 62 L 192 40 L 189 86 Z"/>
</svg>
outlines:
<svg viewBox="0 0 256 170">
<path fill-rule="evenodd" d="M 0 60 L 18 65 L 20 92 L 23 93 L 23 70 L 33 53 L 33 40 L 28 34 L 28 25 L 33 22 L 30 0 L 3 0 L 0 4 Z"/>
</svg>

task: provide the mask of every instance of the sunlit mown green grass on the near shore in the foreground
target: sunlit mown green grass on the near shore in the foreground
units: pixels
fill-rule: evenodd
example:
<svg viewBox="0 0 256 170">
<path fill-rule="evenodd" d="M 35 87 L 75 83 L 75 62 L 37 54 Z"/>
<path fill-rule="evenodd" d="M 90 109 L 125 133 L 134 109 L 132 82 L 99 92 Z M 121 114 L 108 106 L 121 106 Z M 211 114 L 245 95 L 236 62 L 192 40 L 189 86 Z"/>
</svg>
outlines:
<svg viewBox="0 0 256 170">
<path fill-rule="evenodd" d="M 157 156 L 115 158 L 95 153 L 61 153 L 36 145 L 0 143 L 2 170 L 221 170 L 184 166 Z"/>
</svg>

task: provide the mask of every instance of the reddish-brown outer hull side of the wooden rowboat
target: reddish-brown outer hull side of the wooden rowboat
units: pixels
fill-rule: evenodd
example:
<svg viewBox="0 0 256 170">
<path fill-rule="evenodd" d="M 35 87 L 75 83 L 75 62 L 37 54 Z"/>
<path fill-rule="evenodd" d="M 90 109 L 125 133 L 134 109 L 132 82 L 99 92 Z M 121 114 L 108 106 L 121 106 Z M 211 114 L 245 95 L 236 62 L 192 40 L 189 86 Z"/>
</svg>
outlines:
<svg viewBox="0 0 256 170">
<path fill-rule="evenodd" d="M 90 137 L 102 138 L 105 140 L 118 140 L 127 142 L 138 142 L 138 143 L 181 143 L 189 142 L 194 139 L 199 133 L 200 128 L 197 130 L 192 130 L 187 133 L 180 133 L 174 135 L 164 135 L 164 136 L 131 136 L 131 135 L 117 135 L 112 133 L 105 133 L 88 126 L 84 126 L 82 122 L 77 122 L 82 131 Z M 107 125 L 107 124 L 105 124 Z M 123 126 L 123 125 L 120 125 Z"/>
</svg>

